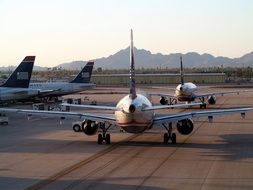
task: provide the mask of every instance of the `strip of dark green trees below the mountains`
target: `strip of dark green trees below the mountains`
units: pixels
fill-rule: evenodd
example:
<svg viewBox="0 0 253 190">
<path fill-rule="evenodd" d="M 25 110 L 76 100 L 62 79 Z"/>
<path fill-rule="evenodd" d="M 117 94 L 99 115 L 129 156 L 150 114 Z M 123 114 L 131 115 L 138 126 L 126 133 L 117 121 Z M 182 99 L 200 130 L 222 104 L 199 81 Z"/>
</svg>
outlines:
<svg viewBox="0 0 253 190">
<path fill-rule="evenodd" d="M 78 70 L 66 70 L 63 68 L 52 68 L 46 71 L 33 71 L 33 81 L 69 81 L 80 72 Z M 179 74 L 179 68 L 137 68 L 137 74 Z M 1 81 L 10 75 L 10 71 L 0 71 Z M 128 69 L 102 69 L 95 68 L 93 74 L 128 74 Z M 253 76 L 253 67 L 210 67 L 210 68 L 184 68 L 184 73 L 224 73 L 226 81 L 245 81 L 250 82 Z"/>
</svg>

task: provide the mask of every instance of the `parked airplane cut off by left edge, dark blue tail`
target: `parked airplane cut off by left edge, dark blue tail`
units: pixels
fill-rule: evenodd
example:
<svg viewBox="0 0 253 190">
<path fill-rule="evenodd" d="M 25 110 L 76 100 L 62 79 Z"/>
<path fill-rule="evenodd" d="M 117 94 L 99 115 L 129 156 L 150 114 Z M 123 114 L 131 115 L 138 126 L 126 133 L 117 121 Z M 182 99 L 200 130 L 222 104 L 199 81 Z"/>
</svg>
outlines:
<svg viewBox="0 0 253 190">
<path fill-rule="evenodd" d="M 0 86 L 0 102 L 26 99 L 37 95 L 37 90 L 29 89 L 35 56 L 26 56 L 10 77 Z"/>
</svg>

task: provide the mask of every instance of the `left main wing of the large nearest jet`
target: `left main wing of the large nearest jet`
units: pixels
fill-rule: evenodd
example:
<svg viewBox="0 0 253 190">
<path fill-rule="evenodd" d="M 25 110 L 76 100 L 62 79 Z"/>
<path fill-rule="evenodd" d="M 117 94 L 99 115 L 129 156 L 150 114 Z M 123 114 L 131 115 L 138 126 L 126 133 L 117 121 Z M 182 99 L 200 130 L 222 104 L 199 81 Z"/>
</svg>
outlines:
<svg viewBox="0 0 253 190">
<path fill-rule="evenodd" d="M 76 118 L 76 119 L 87 119 L 97 122 L 108 122 L 115 124 L 116 119 L 114 114 L 92 114 L 92 113 L 80 113 L 80 112 L 63 112 L 63 111 L 45 111 L 45 110 L 26 110 L 26 109 L 9 109 L 9 108 L 0 108 L 1 113 L 22 113 L 27 114 L 28 116 L 39 115 L 39 116 L 50 116 L 50 117 L 59 117 L 59 118 Z"/>
</svg>

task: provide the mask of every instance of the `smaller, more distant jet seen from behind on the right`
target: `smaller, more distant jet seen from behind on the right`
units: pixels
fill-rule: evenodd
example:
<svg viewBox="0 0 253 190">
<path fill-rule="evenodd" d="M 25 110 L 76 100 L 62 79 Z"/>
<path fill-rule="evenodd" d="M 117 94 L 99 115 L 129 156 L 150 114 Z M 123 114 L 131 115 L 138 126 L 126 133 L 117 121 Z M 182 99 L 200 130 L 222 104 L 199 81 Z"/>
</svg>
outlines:
<svg viewBox="0 0 253 190">
<path fill-rule="evenodd" d="M 236 91 L 226 91 L 226 92 L 211 92 L 211 93 L 198 93 L 199 88 L 191 83 L 184 82 L 184 73 L 183 73 L 183 63 L 182 57 L 180 57 L 180 75 L 181 83 L 175 88 L 174 94 L 163 94 L 163 93 L 152 93 L 150 95 L 160 96 L 160 103 L 165 104 L 175 104 L 179 102 L 193 102 L 195 100 L 200 100 L 202 103 L 200 108 L 206 108 L 206 102 L 208 104 L 216 103 L 216 96 L 223 96 L 225 94 L 239 94 L 241 92 L 252 92 L 253 90 L 236 90 Z"/>
</svg>

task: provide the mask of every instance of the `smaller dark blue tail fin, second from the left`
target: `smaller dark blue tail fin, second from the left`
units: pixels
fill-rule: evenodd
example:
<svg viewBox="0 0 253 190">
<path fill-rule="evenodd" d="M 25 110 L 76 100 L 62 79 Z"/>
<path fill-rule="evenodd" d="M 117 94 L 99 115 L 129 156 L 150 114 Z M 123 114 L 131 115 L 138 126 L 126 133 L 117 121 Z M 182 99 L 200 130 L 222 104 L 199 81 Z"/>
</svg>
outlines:
<svg viewBox="0 0 253 190">
<path fill-rule="evenodd" d="M 93 61 L 89 61 L 84 68 L 78 73 L 78 75 L 70 83 L 89 83 L 92 70 L 93 70 Z"/>
</svg>

